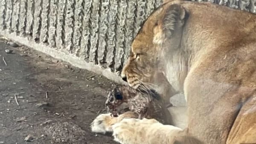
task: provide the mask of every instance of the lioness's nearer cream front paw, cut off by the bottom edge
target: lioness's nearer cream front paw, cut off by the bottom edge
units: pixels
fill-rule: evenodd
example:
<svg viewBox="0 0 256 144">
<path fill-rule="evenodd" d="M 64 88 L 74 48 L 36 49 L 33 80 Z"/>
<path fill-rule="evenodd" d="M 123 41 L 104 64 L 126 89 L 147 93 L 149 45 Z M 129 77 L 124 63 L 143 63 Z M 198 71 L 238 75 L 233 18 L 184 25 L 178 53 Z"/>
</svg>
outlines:
<svg viewBox="0 0 256 144">
<path fill-rule="evenodd" d="M 114 141 L 120 144 L 176 144 L 182 129 L 163 125 L 154 119 L 125 118 L 113 125 Z"/>
</svg>

